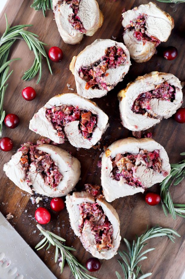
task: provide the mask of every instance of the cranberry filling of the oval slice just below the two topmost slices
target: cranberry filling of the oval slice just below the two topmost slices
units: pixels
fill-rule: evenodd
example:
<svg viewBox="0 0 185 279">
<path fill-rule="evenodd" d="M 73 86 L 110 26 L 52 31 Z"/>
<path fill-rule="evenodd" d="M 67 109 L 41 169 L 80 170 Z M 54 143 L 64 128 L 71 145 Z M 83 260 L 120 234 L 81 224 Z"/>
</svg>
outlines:
<svg viewBox="0 0 185 279">
<path fill-rule="evenodd" d="M 105 50 L 105 55 L 91 66 L 80 67 L 79 76 L 87 81 L 86 89 L 111 90 L 113 87 L 107 84 L 105 77 L 107 69 L 117 68 L 126 61 L 126 54 L 121 47 L 111 46 Z"/>
</svg>

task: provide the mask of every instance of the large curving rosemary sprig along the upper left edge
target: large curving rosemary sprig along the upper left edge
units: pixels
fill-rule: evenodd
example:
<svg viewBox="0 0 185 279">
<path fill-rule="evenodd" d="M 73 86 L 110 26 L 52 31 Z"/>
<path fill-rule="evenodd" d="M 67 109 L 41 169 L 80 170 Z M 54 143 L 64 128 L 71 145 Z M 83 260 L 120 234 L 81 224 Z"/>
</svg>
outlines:
<svg viewBox="0 0 185 279">
<path fill-rule="evenodd" d="M 42 67 L 41 67 L 41 59 L 42 55 L 46 58 L 47 65 L 49 67 L 50 73 L 52 74 L 52 70 L 50 67 L 49 60 L 47 58 L 46 51 L 44 49 L 45 45 L 41 41 L 38 40 L 38 36 L 32 32 L 29 32 L 27 30 L 24 30 L 25 27 L 29 27 L 32 25 L 16 25 L 13 27 L 10 27 L 10 24 L 8 24 L 7 16 L 5 14 L 6 19 L 6 29 L 4 31 L 4 34 L 0 38 L 0 137 L 2 134 L 2 123 L 5 116 L 5 111 L 3 111 L 3 100 L 4 100 L 4 93 L 8 86 L 6 84 L 8 78 L 12 74 L 13 70 L 9 73 L 9 64 L 13 60 L 12 59 L 8 61 L 8 54 L 10 47 L 13 45 L 13 43 L 16 41 L 16 39 L 25 40 L 30 50 L 33 50 L 35 54 L 35 60 L 33 63 L 33 66 L 31 66 L 30 69 L 28 69 L 25 73 L 22 79 L 25 80 L 31 80 L 36 76 L 36 74 L 39 71 L 39 76 L 37 80 L 37 84 L 41 79 L 42 74 Z"/>
</svg>

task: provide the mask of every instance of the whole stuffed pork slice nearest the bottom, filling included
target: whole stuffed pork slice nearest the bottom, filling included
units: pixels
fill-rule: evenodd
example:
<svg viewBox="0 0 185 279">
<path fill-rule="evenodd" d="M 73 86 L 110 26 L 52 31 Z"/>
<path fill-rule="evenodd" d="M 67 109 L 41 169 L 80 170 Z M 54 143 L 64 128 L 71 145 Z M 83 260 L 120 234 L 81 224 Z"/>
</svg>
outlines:
<svg viewBox="0 0 185 279">
<path fill-rule="evenodd" d="M 66 196 L 66 207 L 74 233 L 84 248 L 98 259 L 110 259 L 120 245 L 120 221 L 111 204 L 98 197 L 97 186 L 86 184 L 89 192 L 73 192 Z M 91 193 L 93 195 L 91 195 Z"/>
</svg>

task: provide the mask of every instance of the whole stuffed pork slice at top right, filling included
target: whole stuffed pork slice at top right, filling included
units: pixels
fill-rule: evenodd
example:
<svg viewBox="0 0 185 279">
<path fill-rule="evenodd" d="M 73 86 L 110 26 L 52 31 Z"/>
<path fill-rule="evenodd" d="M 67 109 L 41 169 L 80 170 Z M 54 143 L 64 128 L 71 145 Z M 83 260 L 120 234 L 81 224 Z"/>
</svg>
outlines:
<svg viewBox="0 0 185 279">
<path fill-rule="evenodd" d="M 173 18 L 152 2 L 124 12 L 122 18 L 124 43 L 138 63 L 148 61 L 174 27 Z"/>
</svg>

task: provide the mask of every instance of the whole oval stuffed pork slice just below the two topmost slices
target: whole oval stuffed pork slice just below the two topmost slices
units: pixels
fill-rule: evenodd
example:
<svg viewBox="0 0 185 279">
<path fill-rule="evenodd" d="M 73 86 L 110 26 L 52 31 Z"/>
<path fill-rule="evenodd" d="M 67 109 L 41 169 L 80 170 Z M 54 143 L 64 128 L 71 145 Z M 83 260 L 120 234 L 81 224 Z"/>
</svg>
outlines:
<svg viewBox="0 0 185 279">
<path fill-rule="evenodd" d="M 129 51 L 123 43 L 95 40 L 70 63 L 77 93 L 84 98 L 101 98 L 122 81 L 130 67 Z"/>
</svg>

